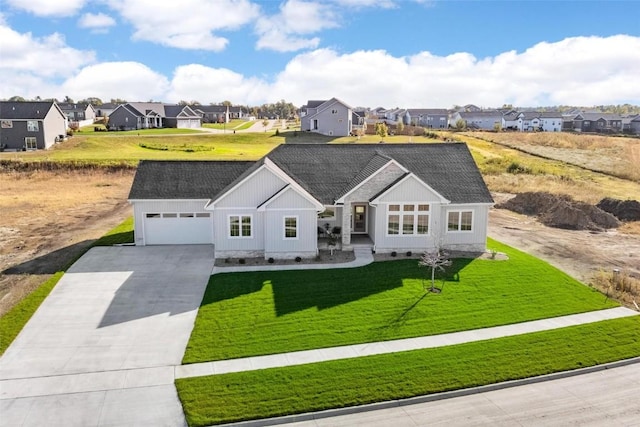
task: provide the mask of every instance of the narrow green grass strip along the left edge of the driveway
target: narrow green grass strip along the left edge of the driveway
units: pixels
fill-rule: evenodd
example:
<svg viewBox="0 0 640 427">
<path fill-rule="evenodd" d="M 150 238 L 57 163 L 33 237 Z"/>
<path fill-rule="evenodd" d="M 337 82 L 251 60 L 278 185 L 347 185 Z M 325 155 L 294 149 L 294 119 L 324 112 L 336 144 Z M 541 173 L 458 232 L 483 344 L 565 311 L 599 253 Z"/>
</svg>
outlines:
<svg viewBox="0 0 640 427">
<path fill-rule="evenodd" d="M 120 225 L 110 230 L 107 234 L 96 240 L 90 247 L 94 246 L 111 246 L 119 243 L 133 242 L 133 217 L 124 220 Z M 88 249 L 87 249 L 88 250 Z M 0 317 L 0 355 L 2 355 L 13 340 L 18 336 L 24 325 L 27 324 L 33 313 L 36 312 L 40 304 L 49 295 L 58 281 L 64 275 L 64 272 L 82 256 L 70 260 L 63 268 L 51 278 L 38 286 L 33 292 L 22 299 L 11 310 Z"/>
</svg>

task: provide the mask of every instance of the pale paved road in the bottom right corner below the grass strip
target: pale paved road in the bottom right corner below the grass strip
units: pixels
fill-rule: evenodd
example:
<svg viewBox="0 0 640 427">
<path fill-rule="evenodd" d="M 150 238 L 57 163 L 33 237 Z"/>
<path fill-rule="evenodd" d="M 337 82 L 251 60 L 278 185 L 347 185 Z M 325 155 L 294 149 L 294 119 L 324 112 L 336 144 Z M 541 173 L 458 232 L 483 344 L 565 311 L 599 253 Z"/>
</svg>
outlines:
<svg viewBox="0 0 640 427">
<path fill-rule="evenodd" d="M 286 425 L 640 426 L 640 364 L 471 396 Z"/>
</svg>

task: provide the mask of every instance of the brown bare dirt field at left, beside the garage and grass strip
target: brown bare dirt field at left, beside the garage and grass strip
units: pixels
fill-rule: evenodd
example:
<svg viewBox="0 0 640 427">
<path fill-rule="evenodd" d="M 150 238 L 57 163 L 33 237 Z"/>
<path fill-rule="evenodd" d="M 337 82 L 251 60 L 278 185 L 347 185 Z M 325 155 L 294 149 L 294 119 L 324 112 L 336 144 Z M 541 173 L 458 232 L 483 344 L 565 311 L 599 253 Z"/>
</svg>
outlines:
<svg viewBox="0 0 640 427">
<path fill-rule="evenodd" d="M 0 173 L 0 315 L 131 215 L 133 171 Z"/>
</svg>

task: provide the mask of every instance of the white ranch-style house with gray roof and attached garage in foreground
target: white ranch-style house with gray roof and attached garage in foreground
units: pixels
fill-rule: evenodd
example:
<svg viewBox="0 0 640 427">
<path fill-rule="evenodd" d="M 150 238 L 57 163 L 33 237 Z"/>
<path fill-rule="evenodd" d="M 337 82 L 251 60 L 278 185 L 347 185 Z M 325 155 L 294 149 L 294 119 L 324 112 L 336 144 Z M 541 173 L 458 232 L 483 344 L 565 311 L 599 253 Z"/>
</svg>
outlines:
<svg viewBox="0 0 640 427">
<path fill-rule="evenodd" d="M 323 230 L 372 250 L 484 251 L 493 199 L 465 144 L 284 144 L 261 160 L 142 161 L 136 245 L 212 244 L 216 258 L 310 258 Z"/>
</svg>

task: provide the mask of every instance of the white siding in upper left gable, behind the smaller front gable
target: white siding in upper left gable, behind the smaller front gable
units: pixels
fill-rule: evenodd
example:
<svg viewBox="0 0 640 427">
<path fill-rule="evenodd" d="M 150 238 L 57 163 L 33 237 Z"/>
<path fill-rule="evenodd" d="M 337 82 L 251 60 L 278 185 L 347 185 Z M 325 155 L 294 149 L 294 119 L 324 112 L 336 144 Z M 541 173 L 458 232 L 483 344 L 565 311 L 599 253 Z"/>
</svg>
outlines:
<svg viewBox="0 0 640 427">
<path fill-rule="evenodd" d="M 218 208 L 257 208 L 277 193 L 286 183 L 266 167 L 216 201 Z"/>
</svg>

